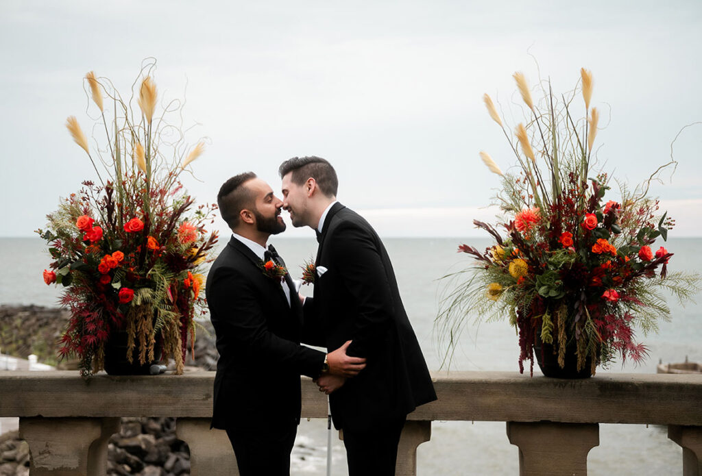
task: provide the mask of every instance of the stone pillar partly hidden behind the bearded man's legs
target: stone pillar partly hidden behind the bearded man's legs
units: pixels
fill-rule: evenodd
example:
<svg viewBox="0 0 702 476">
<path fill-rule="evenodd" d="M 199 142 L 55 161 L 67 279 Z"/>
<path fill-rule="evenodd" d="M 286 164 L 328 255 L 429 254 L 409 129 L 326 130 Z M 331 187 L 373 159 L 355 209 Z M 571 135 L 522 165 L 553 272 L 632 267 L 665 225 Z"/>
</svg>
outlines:
<svg viewBox="0 0 702 476">
<path fill-rule="evenodd" d="M 239 476 L 227 433 L 210 430 L 210 419 L 178 418 L 176 435 L 190 447 L 191 476 Z"/>
</svg>

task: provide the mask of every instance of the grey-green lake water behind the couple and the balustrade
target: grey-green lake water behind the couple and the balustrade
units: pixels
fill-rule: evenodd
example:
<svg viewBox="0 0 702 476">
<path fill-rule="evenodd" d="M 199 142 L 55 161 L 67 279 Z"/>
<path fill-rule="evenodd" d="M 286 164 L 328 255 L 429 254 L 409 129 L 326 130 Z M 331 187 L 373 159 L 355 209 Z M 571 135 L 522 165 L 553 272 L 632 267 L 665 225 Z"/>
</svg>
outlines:
<svg viewBox="0 0 702 476">
<path fill-rule="evenodd" d="M 225 238 L 224 242 L 228 240 Z M 395 267 L 406 311 L 420 341 L 430 369 L 439 369 L 441 354 L 433 333 L 442 284 L 438 278 L 470 265 L 466 254 L 456 253 L 461 243 L 477 248 L 489 245 L 484 238 L 386 238 L 383 240 Z M 293 277 L 298 266 L 316 254 L 317 242 L 310 239 L 275 238 Z M 220 247 L 225 243 L 220 243 Z M 702 240 L 671 238 L 665 247 L 675 256 L 670 271 L 702 269 Z M 55 306 L 60 288 L 46 286 L 41 272 L 51 261 L 46 244 L 39 238 L 0 238 L 0 304 Z M 311 289 L 303 286 L 303 294 Z M 702 303 L 698 295 L 696 301 Z M 658 334 L 639 336 L 649 348 L 643 365 L 627 362 L 602 372 L 656 372 L 658 360 L 702 361 L 702 328 L 699 307 L 682 308 L 669 299 L 672 322 L 661 322 Z M 517 336 L 508 322 L 470 325 L 462 336 L 451 370 L 498 370 L 518 372 Z M 538 374 L 538 367 L 534 374 Z M 664 402 L 661 402 L 662 404 Z M 345 475 L 343 444 L 333 438 L 333 475 Z M 326 466 L 326 421 L 303 421 L 293 451 L 292 474 L 324 475 Z M 418 475 L 515 475 L 519 471 L 517 447 L 508 440 L 503 422 L 434 422 L 432 439 L 418 449 Z M 600 446 L 588 456 L 589 475 L 674 475 L 682 468 L 682 450 L 668 440 L 667 429 L 659 426 L 600 425 Z"/>
</svg>

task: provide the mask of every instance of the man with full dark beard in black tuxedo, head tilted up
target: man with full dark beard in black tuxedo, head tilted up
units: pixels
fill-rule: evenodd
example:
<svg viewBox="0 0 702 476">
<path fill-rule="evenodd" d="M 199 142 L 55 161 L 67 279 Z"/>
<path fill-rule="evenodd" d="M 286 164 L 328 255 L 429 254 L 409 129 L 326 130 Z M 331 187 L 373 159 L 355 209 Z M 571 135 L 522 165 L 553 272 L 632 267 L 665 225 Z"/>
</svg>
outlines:
<svg viewBox="0 0 702 476">
<path fill-rule="evenodd" d="M 213 428 L 227 431 L 241 476 L 288 476 L 300 422 L 300 374 L 351 378 L 365 367 L 344 348 L 300 346 L 302 304 L 270 235 L 285 230 L 282 201 L 253 172 L 232 177 L 217 201 L 232 238 L 213 263 L 207 304 L 219 360 Z"/>
</svg>

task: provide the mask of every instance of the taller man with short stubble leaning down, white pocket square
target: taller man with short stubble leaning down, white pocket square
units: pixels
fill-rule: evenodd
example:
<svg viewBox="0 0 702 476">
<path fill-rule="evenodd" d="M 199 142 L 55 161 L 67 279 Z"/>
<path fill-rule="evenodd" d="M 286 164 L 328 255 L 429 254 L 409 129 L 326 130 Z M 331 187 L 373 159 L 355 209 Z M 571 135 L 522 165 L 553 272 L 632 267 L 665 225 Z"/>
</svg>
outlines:
<svg viewBox="0 0 702 476">
<path fill-rule="evenodd" d="M 327 348 L 352 341 L 347 354 L 366 358 L 353 379 L 324 375 L 334 426 L 343 430 L 350 476 L 395 475 L 407 414 L 437 396 L 404 311 L 383 243 L 360 215 L 336 201 L 338 179 L 319 157 L 291 158 L 279 168 L 284 208 L 293 226 L 317 232 L 314 297 L 305 320 Z M 318 344 L 319 345 L 319 344 Z"/>
</svg>

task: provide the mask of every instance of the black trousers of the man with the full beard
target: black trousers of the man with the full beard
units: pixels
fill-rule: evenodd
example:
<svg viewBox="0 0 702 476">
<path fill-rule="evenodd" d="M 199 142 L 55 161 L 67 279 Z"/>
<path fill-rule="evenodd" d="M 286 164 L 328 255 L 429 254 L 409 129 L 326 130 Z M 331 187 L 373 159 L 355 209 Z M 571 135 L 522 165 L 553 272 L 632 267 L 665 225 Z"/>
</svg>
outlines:
<svg viewBox="0 0 702 476">
<path fill-rule="evenodd" d="M 295 421 L 227 425 L 239 475 L 290 476 L 290 452 L 297 432 Z"/>
</svg>

